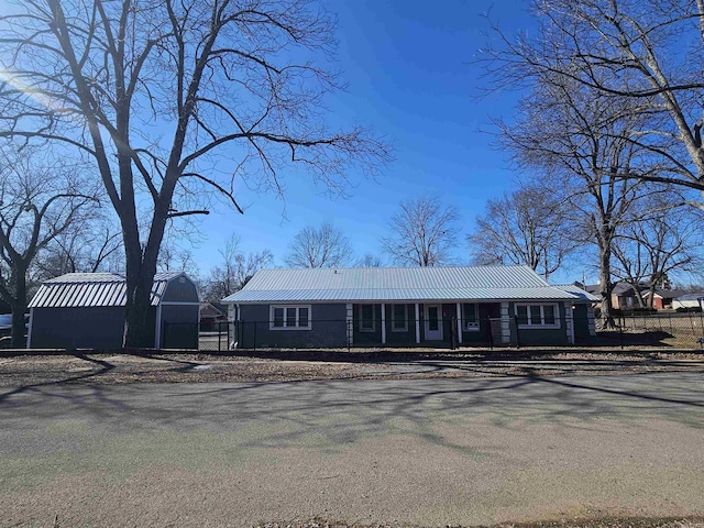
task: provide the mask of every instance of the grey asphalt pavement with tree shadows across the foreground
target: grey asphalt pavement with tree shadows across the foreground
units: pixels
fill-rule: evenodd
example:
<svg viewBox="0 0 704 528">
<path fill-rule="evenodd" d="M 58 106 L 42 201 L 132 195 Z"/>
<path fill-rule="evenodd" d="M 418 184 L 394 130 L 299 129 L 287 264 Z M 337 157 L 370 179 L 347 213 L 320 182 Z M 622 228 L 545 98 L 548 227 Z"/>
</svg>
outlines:
<svg viewBox="0 0 704 528">
<path fill-rule="evenodd" d="M 0 388 L 0 526 L 704 515 L 701 374 Z"/>
</svg>

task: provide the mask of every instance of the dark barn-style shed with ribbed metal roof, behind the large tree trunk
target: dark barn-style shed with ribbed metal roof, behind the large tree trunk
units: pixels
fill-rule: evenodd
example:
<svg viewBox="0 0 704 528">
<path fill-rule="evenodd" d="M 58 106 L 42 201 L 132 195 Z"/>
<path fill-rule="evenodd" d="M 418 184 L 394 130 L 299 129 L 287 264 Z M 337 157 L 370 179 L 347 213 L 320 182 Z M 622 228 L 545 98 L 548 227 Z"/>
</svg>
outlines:
<svg viewBox="0 0 704 528">
<path fill-rule="evenodd" d="M 30 302 L 28 348 L 122 348 L 127 280 L 116 273 L 68 273 Z M 150 321 L 155 349 L 198 349 L 198 290 L 184 272 L 154 276 Z"/>
</svg>

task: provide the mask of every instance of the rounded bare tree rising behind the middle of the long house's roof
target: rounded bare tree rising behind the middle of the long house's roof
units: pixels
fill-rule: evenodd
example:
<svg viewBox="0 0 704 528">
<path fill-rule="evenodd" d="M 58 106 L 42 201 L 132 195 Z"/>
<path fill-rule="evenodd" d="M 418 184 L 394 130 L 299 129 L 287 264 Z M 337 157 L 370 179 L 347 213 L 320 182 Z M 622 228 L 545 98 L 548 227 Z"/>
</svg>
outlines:
<svg viewBox="0 0 704 528">
<path fill-rule="evenodd" d="M 383 250 L 404 266 L 450 264 L 451 250 L 458 244 L 458 210 L 442 206 L 437 197 L 404 200 L 388 223 L 392 234 L 381 239 Z"/>
</svg>

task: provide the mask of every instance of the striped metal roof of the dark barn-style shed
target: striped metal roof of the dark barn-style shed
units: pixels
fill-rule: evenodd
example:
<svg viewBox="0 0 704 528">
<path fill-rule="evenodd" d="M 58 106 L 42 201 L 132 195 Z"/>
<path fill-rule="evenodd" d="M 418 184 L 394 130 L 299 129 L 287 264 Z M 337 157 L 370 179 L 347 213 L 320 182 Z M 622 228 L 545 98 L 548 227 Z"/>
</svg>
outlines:
<svg viewBox="0 0 704 528">
<path fill-rule="evenodd" d="M 154 276 L 150 302 L 157 306 L 170 280 L 184 272 L 161 272 Z M 76 308 L 124 306 L 127 282 L 117 273 L 67 273 L 42 284 L 30 308 Z"/>
</svg>

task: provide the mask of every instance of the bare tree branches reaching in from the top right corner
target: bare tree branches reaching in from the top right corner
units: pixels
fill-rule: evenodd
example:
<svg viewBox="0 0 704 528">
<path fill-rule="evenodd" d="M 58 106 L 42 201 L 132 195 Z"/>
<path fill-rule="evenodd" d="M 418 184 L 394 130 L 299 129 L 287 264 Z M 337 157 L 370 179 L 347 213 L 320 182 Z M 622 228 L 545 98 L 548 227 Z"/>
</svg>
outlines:
<svg viewBox="0 0 704 528">
<path fill-rule="evenodd" d="M 546 77 L 560 77 L 602 99 L 630 99 L 651 125 L 629 141 L 660 167 L 622 175 L 704 191 L 704 72 L 696 59 L 704 52 L 704 2 L 531 3 L 539 32 L 513 40 L 499 32 L 502 45 L 487 50 L 495 86 L 535 87 Z M 691 204 L 704 209 L 701 200 Z"/>
</svg>

